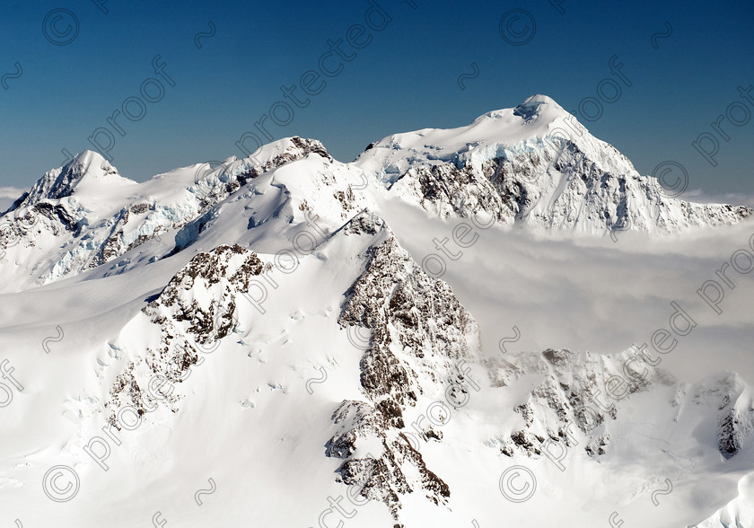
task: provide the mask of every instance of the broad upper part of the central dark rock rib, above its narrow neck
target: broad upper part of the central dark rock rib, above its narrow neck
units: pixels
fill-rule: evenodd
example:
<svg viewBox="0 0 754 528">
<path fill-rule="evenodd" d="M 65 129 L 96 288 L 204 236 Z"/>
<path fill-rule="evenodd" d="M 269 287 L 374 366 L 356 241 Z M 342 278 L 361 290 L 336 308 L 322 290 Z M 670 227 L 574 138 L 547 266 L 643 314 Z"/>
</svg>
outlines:
<svg viewBox="0 0 754 528">
<path fill-rule="evenodd" d="M 373 331 L 362 360 L 362 386 L 374 400 L 403 407 L 421 393 L 419 381 L 442 382 L 444 372 L 468 356 L 467 336 L 476 331 L 450 286 L 429 277 L 390 235 L 371 248 L 364 273 L 346 293 L 342 325 Z M 421 365 L 416 373 L 401 356 Z"/>
</svg>

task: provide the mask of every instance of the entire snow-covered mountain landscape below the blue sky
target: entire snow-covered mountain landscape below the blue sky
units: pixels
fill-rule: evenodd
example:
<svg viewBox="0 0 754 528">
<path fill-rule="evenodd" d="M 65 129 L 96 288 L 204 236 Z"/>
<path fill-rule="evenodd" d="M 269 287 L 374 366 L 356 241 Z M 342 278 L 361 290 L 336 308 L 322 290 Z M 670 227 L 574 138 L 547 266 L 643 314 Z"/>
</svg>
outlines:
<svg viewBox="0 0 754 528">
<path fill-rule="evenodd" d="M 558 295 L 604 317 L 601 299 L 579 305 L 564 248 L 602 262 L 590 279 L 609 289 L 604 262 L 716 262 L 727 248 L 679 248 L 738 235 L 751 213 L 667 197 L 542 95 L 468 127 L 390 136 L 353 163 L 294 136 L 137 183 L 78 154 L 0 218 L 0 521 L 748 525 L 745 352 L 717 346 L 717 371 L 693 379 L 671 357 L 722 320 L 674 301 L 651 354 L 617 316 L 603 350 L 509 353 L 518 326 L 490 348 L 505 330 L 488 321 L 523 299 L 568 326 Z M 471 253 L 447 277 L 416 249 L 438 229 Z M 613 231 L 636 232 L 641 250 Z M 551 259 L 546 275 L 515 268 L 515 237 L 534 241 L 525 262 Z M 664 299 L 641 279 L 618 279 L 636 280 L 620 294 L 628 311 Z M 678 280 L 694 294 L 697 276 Z M 529 284 L 553 290 L 527 299 Z M 738 317 L 723 330 L 750 343 L 754 321 Z"/>
</svg>

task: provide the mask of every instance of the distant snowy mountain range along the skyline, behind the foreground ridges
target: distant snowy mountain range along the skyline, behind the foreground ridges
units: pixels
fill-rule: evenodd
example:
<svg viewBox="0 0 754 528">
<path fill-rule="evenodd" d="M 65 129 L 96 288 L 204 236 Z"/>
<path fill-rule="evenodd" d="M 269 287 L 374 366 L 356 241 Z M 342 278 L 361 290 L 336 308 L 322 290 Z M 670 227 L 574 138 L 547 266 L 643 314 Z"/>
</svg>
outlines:
<svg viewBox="0 0 754 528">
<path fill-rule="evenodd" d="M 599 235 L 675 233 L 752 214 L 748 207 L 668 198 L 657 180 L 640 176 L 555 101 L 535 95 L 468 127 L 390 136 L 354 163 L 337 162 L 318 141 L 292 137 L 245 160 L 192 165 L 137 184 L 85 151 L 13 204 L 0 227 L 0 247 L 22 281 L 40 284 L 101 266 L 163 234 L 185 247 L 247 181 L 304 158 L 309 161 L 285 172 L 341 193 L 336 198 L 351 207 L 341 219 L 355 213 L 354 189 L 364 204 L 397 197 L 446 218 L 487 214 L 504 225 Z M 254 200 L 249 207 L 257 207 Z"/>
</svg>

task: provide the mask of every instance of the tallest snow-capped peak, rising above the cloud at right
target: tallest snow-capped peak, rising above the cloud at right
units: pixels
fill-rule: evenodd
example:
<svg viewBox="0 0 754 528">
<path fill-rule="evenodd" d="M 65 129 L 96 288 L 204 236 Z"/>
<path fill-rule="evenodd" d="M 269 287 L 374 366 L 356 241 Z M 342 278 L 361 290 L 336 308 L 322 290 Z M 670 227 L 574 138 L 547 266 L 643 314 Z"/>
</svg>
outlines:
<svg viewBox="0 0 754 528">
<path fill-rule="evenodd" d="M 748 207 L 668 198 L 612 145 L 545 95 L 489 112 L 468 127 L 417 130 L 370 145 L 355 165 L 441 215 L 487 212 L 580 233 L 673 233 L 739 222 Z"/>
</svg>

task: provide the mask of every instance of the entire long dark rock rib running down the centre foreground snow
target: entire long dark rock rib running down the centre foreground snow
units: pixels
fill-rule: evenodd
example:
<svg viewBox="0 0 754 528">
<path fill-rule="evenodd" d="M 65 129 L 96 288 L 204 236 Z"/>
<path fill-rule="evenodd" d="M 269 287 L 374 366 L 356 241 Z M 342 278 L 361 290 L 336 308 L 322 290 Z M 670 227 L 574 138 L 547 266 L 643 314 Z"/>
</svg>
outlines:
<svg viewBox="0 0 754 528">
<path fill-rule="evenodd" d="M 469 357 L 478 328 L 451 288 L 428 277 L 379 217 L 365 211 L 340 231 L 384 240 L 366 252 L 364 272 L 346 292 L 338 319 L 342 326 L 372 331 L 360 363 L 369 403 L 340 405 L 333 414 L 339 431 L 329 440 L 327 455 L 346 459 L 338 470 L 343 481 L 366 481 L 364 497 L 379 498 L 398 519 L 400 494 L 421 489 L 435 504 L 450 497 L 448 486 L 400 433 L 403 411 L 419 394 L 441 388 L 443 376 L 462 379 L 460 361 Z M 379 439 L 381 457 L 349 458 L 360 438 Z"/>
</svg>

